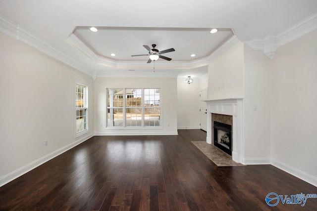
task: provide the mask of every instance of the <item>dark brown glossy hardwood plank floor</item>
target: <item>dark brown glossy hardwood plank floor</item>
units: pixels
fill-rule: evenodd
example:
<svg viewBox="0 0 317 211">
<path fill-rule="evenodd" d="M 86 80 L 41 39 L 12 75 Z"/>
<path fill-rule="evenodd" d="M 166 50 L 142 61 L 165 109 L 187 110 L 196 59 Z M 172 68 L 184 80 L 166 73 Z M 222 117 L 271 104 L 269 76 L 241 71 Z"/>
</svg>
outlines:
<svg viewBox="0 0 317 211">
<path fill-rule="evenodd" d="M 0 210 L 317 210 L 317 199 L 269 207 L 265 197 L 317 193 L 270 165 L 217 167 L 191 141 L 167 136 L 95 136 L 0 187 Z"/>
</svg>

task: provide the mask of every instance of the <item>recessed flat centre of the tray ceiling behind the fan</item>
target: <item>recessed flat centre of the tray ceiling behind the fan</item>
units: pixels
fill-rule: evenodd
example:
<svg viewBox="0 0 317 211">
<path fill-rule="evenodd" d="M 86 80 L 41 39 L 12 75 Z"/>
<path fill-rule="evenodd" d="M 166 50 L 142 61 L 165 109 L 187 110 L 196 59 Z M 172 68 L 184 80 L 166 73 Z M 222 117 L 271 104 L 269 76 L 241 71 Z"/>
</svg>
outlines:
<svg viewBox="0 0 317 211">
<path fill-rule="evenodd" d="M 89 27 L 77 27 L 74 35 L 97 55 L 117 61 L 143 63 L 148 61 L 149 56 L 131 57 L 132 54 L 148 54 L 143 45 L 152 49 L 152 44 L 157 44 L 159 51 L 173 47 L 176 52 L 164 56 L 176 61 L 192 61 L 209 56 L 219 44 L 233 36 L 230 29 L 219 29 L 217 33 L 210 34 L 210 28 L 98 27 L 98 30 L 94 33 Z M 116 56 L 111 58 L 111 53 Z M 195 57 L 191 57 L 193 53 Z"/>
</svg>

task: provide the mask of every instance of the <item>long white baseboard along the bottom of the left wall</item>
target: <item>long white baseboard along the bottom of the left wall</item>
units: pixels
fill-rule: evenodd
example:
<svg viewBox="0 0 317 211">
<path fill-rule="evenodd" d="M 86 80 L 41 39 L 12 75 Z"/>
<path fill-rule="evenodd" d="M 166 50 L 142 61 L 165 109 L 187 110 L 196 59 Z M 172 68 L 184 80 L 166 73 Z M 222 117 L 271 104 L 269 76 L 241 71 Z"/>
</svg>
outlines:
<svg viewBox="0 0 317 211">
<path fill-rule="evenodd" d="M 79 139 L 71 144 L 68 144 L 68 145 L 66 145 L 66 146 L 64 146 L 64 147 L 44 156 L 36 161 L 33 161 L 30 164 L 25 165 L 24 167 L 16 169 L 16 170 L 0 177 L 0 187 L 5 185 L 6 183 L 9 183 L 10 181 L 16 179 L 17 177 L 29 172 L 30 170 L 35 169 L 38 166 L 41 166 L 42 164 L 48 162 L 49 160 L 55 158 L 56 156 L 58 156 L 60 154 L 66 152 L 67 150 L 70 150 L 71 148 L 77 146 L 78 144 L 88 140 L 89 138 L 91 138 L 93 136 L 94 136 L 94 134 L 88 134 L 85 137 L 83 137 L 83 138 L 81 138 L 81 139 Z"/>
</svg>

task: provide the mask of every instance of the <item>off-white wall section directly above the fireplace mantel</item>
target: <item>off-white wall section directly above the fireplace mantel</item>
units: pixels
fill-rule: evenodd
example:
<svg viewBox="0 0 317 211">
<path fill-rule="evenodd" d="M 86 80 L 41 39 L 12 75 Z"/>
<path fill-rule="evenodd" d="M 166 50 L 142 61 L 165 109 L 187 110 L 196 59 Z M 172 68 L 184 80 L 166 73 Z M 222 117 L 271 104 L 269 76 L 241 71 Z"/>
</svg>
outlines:
<svg viewBox="0 0 317 211">
<path fill-rule="evenodd" d="M 237 42 L 208 67 L 208 99 L 243 97 L 243 43 Z"/>
</svg>

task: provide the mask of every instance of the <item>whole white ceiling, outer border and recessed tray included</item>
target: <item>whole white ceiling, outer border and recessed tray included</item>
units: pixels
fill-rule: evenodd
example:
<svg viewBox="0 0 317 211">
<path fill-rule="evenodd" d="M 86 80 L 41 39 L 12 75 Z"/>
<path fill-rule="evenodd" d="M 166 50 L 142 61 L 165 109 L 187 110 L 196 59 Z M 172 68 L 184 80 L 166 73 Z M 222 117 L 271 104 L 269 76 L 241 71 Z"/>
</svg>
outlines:
<svg viewBox="0 0 317 211">
<path fill-rule="evenodd" d="M 206 65 L 193 64 L 232 36 L 239 41 L 264 38 L 316 12 L 317 0 L 0 0 L 2 17 L 90 74 L 170 74 L 184 80 L 206 75 Z M 99 31 L 89 31 L 91 26 Z M 219 31 L 210 34 L 211 28 Z M 147 56 L 131 57 L 147 54 L 142 45 L 153 43 L 159 50 L 175 49 L 164 54 L 171 61 L 155 62 L 155 73 Z"/>
</svg>

